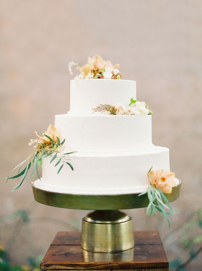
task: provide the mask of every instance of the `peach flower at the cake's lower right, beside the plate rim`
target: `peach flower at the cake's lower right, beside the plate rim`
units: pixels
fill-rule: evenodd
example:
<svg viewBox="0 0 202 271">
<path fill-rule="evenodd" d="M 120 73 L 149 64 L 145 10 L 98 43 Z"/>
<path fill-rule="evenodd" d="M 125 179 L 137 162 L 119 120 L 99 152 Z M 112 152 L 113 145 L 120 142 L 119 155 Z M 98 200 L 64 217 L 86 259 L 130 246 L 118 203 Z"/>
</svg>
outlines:
<svg viewBox="0 0 202 271">
<path fill-rule="evenodd" d="M 150 170 L 148 173 L 150 183 L 155 187 L 161 189 L 163 193 L 171 193 L 172 186 L 176 186 L 175 173 L 170 171 L 161 170 Z"/>
</svg>

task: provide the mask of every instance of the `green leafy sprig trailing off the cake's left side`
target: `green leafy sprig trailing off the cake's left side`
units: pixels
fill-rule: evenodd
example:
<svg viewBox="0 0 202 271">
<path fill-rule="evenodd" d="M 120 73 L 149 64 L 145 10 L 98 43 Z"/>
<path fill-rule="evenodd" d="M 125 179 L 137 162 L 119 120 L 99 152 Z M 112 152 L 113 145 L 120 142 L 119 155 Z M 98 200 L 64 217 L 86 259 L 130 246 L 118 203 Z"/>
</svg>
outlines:
<svg viewBox="0 0 202 271">
<path fill-rule="evenodd" d="M 64 144 L 65 139 L 62 142 L 60 142 L 60 139 L 57 137 L 57 143 L 55 143 L 53 141 L 53 139 L 51 137 L 49 137 L 48 135 L 44 134 L 44 136 L 46 136 L 50 140 L 50 145 L 47 146 L 47 145 L 45 145 L 42 142 L 38 143 L 35 146 L 35 148 L 36 148 L 37 151 L 34 151 L 33 153 L 31 153 L 31 155 L 28 156 L 27 159 L 25 159 L 23 162 L 21 162 L 20 164 L 18 164 L 11 171 L 11 173 L 15 171 L 14 174 L 16 174 L 16 173 L 17 174 L 14 175 L 14 176 L 12 176 L 12 177 L 10 177 L 11 173 L 9 174 L 6 182 L 8 180 L 16 179 L 16 178 L 19 178 L 20 176 L 23 176 L 22 179 L 21 179 L 21 181 L 20 181 L 20 183 L 18 183 L 18 185 L 15 186 L 14 189 L 11 192 L 13 192 L 16 189 L 18 189 L 21 186 L 21 184 L 23 183 L 23 181 L 25 180 L 25 178 L 26 178 L 26 176 L 28 174 L 28 171 L 29 171 L 29 169 L 31 167 L 31 161 L 33 162 L 33 168 L 32 168 L 30 177 L 27 179 L 27 181 L 30 180 L 33 177 L 35 170 L 36 170 L 38 178 L 41 180 L 41 178 L 39 176 L 38 165 L 41 166 L 41 164 L 42 164 L 42 158 L 48 157 L 48 156 L 50 156 L 53 153 L 55 153 L 55 155 L 50 160 L 50 163 L 52 163 L 56 159 L 57 154 L 60 154 L 60 159 L 54 165 L 56 167 L 57 165 L 60 164 L 60 167 L 59 167 L 59 169 L 57 171 L 57 174 L 60 172 L 60 170 L 62 169 L 62 167 L 64 166 L 64 164 L 67 164 L 72 170 L 74 170 L 73 166 L 69 162 L 66 162 L 66 160 L 69 160 L 69 159 L 66 159 L 65 155 L 69 155 L 69 154 L 75 153 L 75 151 L 71 151 L 71 152 L 68 152 L 68 153 L 63 153 L 63 151 L 62 151 L 62 145 Z M 21 170 L 21 167 L 26 162 L 27 162 L 27 166 L 23 170 Z"/>
</svg>

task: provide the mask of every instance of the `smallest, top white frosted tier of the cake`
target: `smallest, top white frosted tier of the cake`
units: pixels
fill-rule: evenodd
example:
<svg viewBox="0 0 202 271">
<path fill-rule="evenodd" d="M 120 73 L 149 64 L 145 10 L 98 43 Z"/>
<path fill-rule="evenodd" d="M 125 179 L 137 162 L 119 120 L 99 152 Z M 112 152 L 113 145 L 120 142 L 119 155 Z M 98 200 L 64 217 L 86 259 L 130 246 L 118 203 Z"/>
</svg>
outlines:
<svg viewBox="0 0 202 271">
<path fill-rule="evenodd" d="M 99 104 L 128 105 L 136 99 L 136 81 L 85 79 L 70 81 L 69 114 L 91 114 Z"/>
</svg>

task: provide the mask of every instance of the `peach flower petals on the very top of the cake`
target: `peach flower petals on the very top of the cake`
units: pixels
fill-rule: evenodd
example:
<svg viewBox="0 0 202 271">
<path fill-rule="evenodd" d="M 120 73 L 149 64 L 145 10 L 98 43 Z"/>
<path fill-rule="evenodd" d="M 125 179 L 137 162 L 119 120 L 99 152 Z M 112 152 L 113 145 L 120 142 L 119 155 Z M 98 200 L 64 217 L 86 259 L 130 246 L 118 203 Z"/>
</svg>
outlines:
<svg viewBox="0 0 202 271">
<path fill-rule="evenodd" d="M 85 75 L 87 75 L 87 73 L 91 70 L 104 70 L 105 67 L 118 69 L 119 66 L 119 64 L 113 66 L 111 61 L 104 61 L 101 56 L 96 54 L 94 57 L 88 57 L 88 64 L 82 66 L 79 71 L 84 72 Z"/>
</svg>

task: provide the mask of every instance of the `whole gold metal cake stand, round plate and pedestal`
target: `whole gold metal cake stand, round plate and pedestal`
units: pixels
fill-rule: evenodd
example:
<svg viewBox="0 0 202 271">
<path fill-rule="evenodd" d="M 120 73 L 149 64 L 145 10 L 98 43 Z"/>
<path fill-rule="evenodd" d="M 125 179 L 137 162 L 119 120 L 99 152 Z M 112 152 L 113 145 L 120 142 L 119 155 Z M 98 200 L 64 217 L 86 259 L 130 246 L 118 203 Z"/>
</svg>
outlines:
<svg viewBox="0 0 202 271">
<path fill-rule="evenodd" d="M 165 194 L 169 202 L 179 197 L 181 180 Z M 118 209 L 147 207 L 147 194 L 139 193 L 117 195 L 86 195 L 48 191 L 38 185 L 40 180 L 32 182 L 34 199 L 42 204 L 68 208 L 95 210 L 82 219 L 81 247 L 93 252 L 116 252 L 131 249 L 134 246 L 132 218 Z"/>
</svg>

